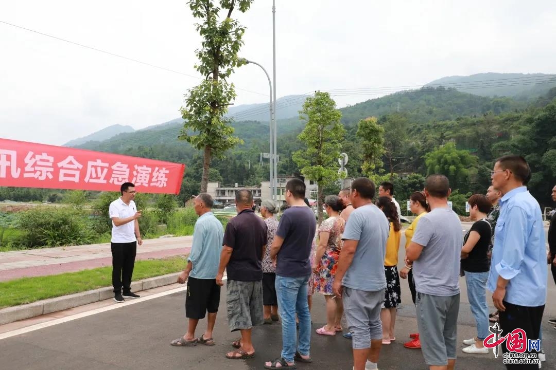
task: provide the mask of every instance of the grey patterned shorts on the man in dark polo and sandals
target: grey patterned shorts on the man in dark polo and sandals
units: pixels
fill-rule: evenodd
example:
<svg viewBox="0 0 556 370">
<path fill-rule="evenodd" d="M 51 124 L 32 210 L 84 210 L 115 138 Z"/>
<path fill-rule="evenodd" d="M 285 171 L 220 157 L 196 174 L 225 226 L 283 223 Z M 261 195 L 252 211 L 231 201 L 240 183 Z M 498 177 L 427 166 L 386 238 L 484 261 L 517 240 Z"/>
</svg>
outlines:
<svg viewBox="0 0 556 370">
<path fill-rule="evenodd" d="M 265 322 L 262 313 L 262 281 L 228 280 L 226 305 L 230 331 L 250 329 Z"/>
</svg>

